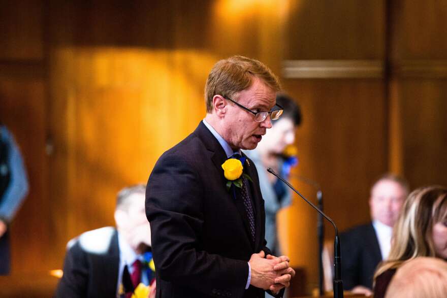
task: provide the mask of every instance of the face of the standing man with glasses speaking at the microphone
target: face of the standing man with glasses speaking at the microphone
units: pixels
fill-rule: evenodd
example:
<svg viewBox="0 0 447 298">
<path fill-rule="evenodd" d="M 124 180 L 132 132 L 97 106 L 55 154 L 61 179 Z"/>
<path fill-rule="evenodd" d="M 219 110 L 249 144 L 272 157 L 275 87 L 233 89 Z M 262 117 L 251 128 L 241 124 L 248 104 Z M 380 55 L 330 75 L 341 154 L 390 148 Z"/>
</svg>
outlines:
<svg viewBox="0 0 447 298">
<path fill-rule="evenodd" d="M 233 100 L 253 112 L 270 112 L 275 106 L 276 92 L 254 77 L 248 89 L 240 91 Z M 258 146 L 267 128 L 272 127 L 270 116 L 255 122 L 254 115 L 229 102 L 225 116 L 227 134 L 224 139 L 233 149 L 251 150 Z"/>
</svg>

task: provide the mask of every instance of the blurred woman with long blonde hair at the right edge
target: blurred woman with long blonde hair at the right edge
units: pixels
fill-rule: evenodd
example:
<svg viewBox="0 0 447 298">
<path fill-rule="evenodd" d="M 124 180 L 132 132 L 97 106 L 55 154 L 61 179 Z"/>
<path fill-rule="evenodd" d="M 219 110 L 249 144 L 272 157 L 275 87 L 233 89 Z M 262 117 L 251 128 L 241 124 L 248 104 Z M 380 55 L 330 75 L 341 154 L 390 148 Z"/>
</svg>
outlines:
<svg viewBox="0 0 447 298">
<path fill-rule="evenodd" d="M 418 256 L 447 259 L 446 220 L 447 188 L 422 187 L 409 194 L 393 229 L 389 257 L 374 274 L 375 298 L 385 296 L 390 280 L 405 261 Z"/>
</svg>

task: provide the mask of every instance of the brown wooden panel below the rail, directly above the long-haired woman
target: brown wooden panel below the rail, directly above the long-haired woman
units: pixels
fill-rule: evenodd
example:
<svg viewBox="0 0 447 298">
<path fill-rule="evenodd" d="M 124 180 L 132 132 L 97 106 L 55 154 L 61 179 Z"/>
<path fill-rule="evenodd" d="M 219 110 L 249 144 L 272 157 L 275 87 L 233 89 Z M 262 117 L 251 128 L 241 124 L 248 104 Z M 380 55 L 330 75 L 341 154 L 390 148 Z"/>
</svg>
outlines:
<svg viewBox="0 0 447 298">
<path fill-rule="evenodd" d="M 400 123 L 398 159 L 400 171 L 412 189 L 425 185 L 447 185 L 447 89 L 446 79 L 400 79 L 396 115 Z"/>
</svg>

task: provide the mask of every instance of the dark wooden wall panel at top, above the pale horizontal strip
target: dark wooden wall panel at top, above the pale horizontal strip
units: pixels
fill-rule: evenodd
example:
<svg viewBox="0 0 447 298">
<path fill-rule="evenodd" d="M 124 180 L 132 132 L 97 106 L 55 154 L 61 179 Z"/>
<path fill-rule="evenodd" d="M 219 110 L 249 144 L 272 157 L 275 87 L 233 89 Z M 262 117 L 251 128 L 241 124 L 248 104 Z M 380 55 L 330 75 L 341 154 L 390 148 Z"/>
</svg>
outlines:
<svg viewBox="0 0 447 298">
<path fill-rule="evenodd" d="M 385 55 L 385 1 L 290 1 L 286 59 L 377 59 Z"/>
</svg>

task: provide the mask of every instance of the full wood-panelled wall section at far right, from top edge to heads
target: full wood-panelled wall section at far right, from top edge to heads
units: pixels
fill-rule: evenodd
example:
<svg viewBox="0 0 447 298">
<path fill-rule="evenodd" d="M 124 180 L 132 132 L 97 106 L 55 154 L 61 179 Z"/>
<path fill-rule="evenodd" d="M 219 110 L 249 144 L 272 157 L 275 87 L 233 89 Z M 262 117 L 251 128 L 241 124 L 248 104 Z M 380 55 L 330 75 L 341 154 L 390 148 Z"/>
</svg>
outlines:
<svg viewBox="0 0 447 298">
<path fill-rule="evenodd" d="M 447 185 L 447 5 L 399 0 L 391 12 L 390 167 L 412 188 Z"/>
</svg>

